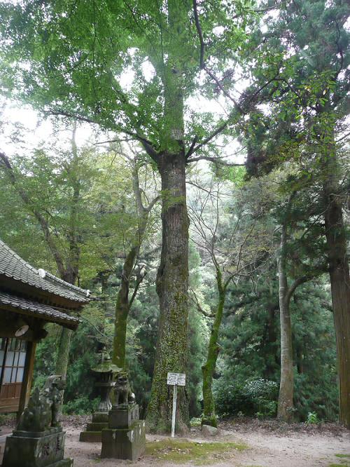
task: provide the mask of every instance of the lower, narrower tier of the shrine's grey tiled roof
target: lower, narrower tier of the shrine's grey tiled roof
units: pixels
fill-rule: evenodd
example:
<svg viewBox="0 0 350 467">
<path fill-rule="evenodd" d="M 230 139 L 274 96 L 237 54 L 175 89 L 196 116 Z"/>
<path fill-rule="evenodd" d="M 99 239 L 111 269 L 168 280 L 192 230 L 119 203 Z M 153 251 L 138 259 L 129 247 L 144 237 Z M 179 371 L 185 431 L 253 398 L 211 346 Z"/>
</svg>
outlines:
<svg viewBox="0 0 350 467">
<path fill-rule="evenodd" d="M 15 295 L 6 294 L 4 292 L 0 292 L 0 306 L 1 305 L 16 309 L 19 313 L 23 312 L 34 318 L 41 318 L 50 321 L 50 323 L 57 323 L 71 329 L 76 329 L 80 322 L 78 318 L 62 313 L 62 311 L 58 311 L 52 306 L 31 302 L 31 300 L 15 297 Z"/>
</svg>

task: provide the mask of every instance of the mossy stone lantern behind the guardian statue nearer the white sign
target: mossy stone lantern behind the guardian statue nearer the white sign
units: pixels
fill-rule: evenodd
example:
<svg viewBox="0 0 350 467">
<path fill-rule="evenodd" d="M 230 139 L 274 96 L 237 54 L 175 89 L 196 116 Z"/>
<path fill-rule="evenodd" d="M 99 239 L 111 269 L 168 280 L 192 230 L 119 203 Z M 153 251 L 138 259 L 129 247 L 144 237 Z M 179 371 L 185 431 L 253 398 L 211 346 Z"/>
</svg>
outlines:
<svg viewBox="0 0 350 467">
<path fill-rule="evenodd" d="M 87 424 L 86 430 L 80 433 L 79 441 L 102 442 L 102 429 L 109 426 L 109 410 L 112 408 L 110 394 L 116 384 L 113 379 L 121 371 L 106 353 L 102 353 L 102 362 L 92 368 L 97 377 L 94 386 L 99 390 L 101 400 L 97 411 L 92 414 L 92 423 Z"/>
</svg>

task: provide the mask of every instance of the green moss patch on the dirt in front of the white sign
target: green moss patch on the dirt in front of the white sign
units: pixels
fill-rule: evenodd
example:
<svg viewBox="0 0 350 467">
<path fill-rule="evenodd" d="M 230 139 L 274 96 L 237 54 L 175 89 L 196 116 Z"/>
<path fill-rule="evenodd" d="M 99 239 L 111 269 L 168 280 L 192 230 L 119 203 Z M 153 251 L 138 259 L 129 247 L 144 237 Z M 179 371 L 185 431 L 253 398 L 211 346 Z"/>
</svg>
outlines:
<svg viewBox="0 0 350 467">
<path fill-rule="evenodd" d="M 192 461 L 195 466 L 215 464 L 235 456 L 237 451 L 247 449 L 238 442 L 195 442 L 166 438 L 146 444 L 146 454 L 159 461 L 183 463 Z"/>
</svg>

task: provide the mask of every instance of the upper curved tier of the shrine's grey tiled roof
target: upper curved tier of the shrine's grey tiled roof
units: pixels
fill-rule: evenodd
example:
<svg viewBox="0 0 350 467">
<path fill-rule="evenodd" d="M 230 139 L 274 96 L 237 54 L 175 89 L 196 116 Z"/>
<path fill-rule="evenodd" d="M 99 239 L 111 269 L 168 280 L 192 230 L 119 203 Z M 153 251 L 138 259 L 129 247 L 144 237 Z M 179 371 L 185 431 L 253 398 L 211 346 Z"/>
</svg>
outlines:
<svg viewBox="0 0 350 467">
<path fill-rule="evenodd" d="M 0 240 L 0 274 L 73 302 L 90 302 L 88 290 L 64 282 L 46 271 L 39 271 Z"/>
</svg>

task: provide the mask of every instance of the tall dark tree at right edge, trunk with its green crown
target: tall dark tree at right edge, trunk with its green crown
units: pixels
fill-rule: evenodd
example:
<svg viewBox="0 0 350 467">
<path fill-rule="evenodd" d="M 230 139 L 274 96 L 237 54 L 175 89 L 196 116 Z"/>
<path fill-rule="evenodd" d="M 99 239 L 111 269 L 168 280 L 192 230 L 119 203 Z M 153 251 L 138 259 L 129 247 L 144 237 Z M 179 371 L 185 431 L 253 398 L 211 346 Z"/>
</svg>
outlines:
<svg viewBox="0 0 350 467">
<path fill-rule="evenodd" d="M 266 18 L 265 38 L 258 38 L 258 57 L 269 54 L 257 81 L 274 76 L 264 89 L 269 111 L 255 112 L 251 130 L 252 166 L 269 170 L 287 158 L 308 159 L 323 201 L 323 235 L 327 243 L 339 369 L 340 421 L 350 426 L 350 278 L 346 251 L 344 164 L 337 139 L 344 143 L 349 109 L 349 18 L 347 1 L 287 1 L 274 20 Z M 282 38 L 282 40 L 281 40 Z M 255 46 L 257 43 L 255 43 Z M 263 75 L 263 76 L 262 76 Z M 266 139 L 264 135 L 269 135 Z M 259 171 L 259 170 L 258 170 Z"/>
</svg>

